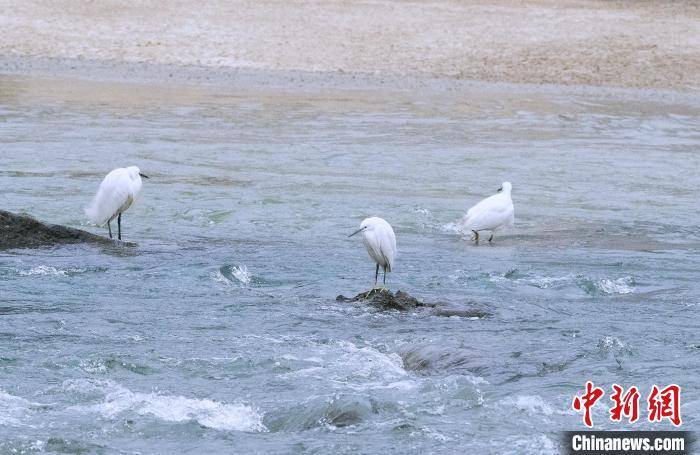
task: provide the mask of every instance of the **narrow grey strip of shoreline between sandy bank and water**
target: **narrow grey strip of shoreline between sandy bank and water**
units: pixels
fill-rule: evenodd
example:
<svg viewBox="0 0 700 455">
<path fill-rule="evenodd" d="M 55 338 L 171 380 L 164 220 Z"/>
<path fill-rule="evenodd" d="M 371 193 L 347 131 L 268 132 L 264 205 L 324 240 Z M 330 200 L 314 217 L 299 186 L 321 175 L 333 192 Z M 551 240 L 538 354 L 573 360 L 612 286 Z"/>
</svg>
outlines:
<svg viewBox="0 0 700 455">
<path fill-rule="evenodd" d="M 416 97 L 470 92 L 481 94 L 566 94 L 590 98 L 700 104 L 700 91 L 533 84 L 437 77 L 429 74 L 348 73 L 344 71 L 267 70 L 202 65 L 155 64 L 55 57 L 0 56 L 0 78 L 58 79 L 94 83 L 187 87 L 204 92 L 383 92 Z"/>
</svg>

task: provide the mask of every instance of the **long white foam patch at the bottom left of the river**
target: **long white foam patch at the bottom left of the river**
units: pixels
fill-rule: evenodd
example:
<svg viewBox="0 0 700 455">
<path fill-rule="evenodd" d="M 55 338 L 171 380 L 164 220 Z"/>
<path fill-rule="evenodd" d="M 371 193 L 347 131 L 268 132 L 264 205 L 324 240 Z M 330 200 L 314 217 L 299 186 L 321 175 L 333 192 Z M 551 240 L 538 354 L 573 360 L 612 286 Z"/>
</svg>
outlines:
<svg viewBox="0 0 700 455">
<path fill-rule="evenodd" d="M 85 382 L 88 383 L 88 387 L 81 387 Z M 104 401 L 78 408 L 98 412 L 107 418 L 131 411 L 139 415 L 152 415 L 166 422 L 194 420 L 200 425 L 216 430 L 267 431 L 262 423 L 262 415 L 243 404 L 227 404 L 207 398 L 132 392 L 111 381 L 80 381 L 68 384 L 69 388 L 89 389 L 90 386 L 105 392 Z"/>
</svg>

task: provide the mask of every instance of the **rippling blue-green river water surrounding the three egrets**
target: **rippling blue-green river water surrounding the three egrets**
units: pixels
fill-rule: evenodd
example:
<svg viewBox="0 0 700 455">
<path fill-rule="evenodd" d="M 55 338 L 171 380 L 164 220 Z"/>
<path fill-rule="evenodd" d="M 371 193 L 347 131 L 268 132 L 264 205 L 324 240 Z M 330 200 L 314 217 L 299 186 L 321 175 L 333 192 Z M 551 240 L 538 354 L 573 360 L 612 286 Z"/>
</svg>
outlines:
<svg viewBox="0 0 700 455">
<path fill-rule="evenodd" d="M 151 177 L 138 246 L 0 252 L 0 453 L 557 453 L 586 380 L 677 383 L 698 429 L 693 98 L 0 88 L 3 209 L 106 235 L 104 174 Z M 474 246 L 503 180 L 516 226 Z M 490 316 L 337 302 L 371 215 L 392 289 Z"/>
</svg>

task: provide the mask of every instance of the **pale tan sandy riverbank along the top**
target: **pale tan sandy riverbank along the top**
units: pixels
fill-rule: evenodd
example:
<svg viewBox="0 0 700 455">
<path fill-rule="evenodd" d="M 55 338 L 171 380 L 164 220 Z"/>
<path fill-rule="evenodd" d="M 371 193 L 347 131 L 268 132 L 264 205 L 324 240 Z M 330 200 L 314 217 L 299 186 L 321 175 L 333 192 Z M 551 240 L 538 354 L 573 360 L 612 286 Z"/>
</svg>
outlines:
<svg viewBox="0 0 700 455">
<path fill-rule="evenodd" d="M 691 1 L 0 1 L 0 9 L 0 72 L 90 61 L 700 88 L 700 5 Z"/>
</svg>

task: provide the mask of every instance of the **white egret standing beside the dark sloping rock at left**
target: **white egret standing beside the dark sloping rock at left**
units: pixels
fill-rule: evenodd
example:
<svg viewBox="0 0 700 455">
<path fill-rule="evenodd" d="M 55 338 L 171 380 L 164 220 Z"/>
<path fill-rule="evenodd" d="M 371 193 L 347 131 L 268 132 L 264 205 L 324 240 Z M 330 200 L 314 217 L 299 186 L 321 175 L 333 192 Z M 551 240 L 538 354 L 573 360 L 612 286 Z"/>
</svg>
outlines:
<svg viewBox="0 0 700 455">
<path fill-rule="evenodd" d="M 117 219 L 118 238 L 122 239 L 122 213 L 126 211 L 141 192 L 141 177 L 138 167 L 120 167 L 114 169 L 100 183 L 95 198 L 85 208 L 85 215 L 98 226 L 107 224 L 109 238 L 112 238 L 111 222 Z"/>
</svg>

